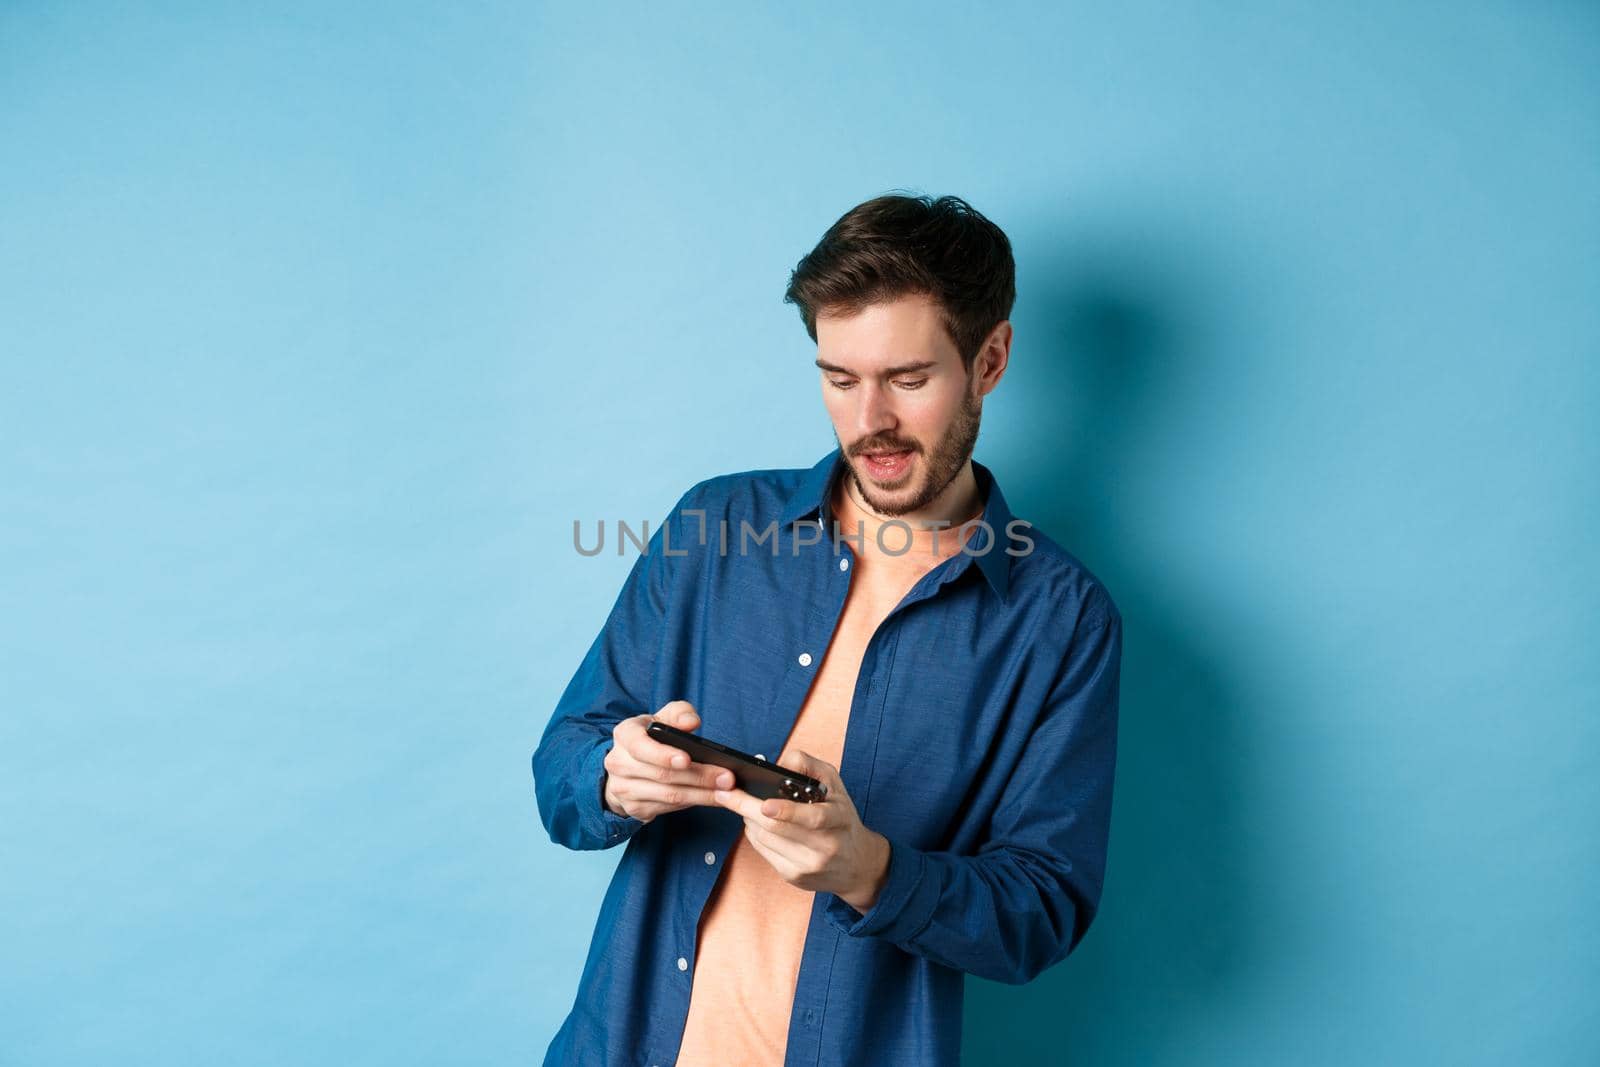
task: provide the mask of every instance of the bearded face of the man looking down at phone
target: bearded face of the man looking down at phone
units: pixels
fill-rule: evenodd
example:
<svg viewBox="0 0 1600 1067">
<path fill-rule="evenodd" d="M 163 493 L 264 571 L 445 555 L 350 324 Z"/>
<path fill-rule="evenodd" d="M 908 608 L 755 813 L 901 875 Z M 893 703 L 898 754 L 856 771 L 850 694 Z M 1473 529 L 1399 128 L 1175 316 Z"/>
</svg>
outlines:
<svg viewBox="0 0 1600 1067">
<path fill-rule="evenodd" d="M 818 315 L 818 366 L 834 437 L 880 515 L 918 512 L 978 442 L 982 390 L 962 366 L 939 306 L 904 296 L 848 317 Z"/>
</svg>

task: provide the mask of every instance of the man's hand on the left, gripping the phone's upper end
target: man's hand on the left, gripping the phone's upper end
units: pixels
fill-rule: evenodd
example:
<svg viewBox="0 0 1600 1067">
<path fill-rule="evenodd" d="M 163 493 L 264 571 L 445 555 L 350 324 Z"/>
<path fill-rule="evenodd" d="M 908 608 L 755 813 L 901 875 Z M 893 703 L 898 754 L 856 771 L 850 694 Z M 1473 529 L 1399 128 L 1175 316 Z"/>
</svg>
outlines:
<svg viewBox="0 0 1600 1067">
<path fill-rule="evenodd" d="M 691 763 L 688 753 L 646 734 L 645 729 L 656 720 L 678 729 L 699 726 L 699 713 L 693 704 L 670 701 L 654 715 L 634 715 L 619 721 L 611 729 L 611 750 L 605 753 L 606 808 L 640 822 L 693 805 L 715 805 L 712 789 L 733 785 L 733 771 Z"/>
</svg>

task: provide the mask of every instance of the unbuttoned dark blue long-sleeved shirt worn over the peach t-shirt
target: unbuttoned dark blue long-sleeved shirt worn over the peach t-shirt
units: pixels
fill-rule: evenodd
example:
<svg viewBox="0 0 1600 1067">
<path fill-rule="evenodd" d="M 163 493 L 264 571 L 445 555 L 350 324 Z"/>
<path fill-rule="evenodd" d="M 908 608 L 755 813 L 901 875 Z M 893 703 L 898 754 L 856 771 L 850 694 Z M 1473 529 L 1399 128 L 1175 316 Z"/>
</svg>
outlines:
<svg viewBox="0 0 1600 1067">
<path fill-rule="evenodd" d="M 992 536 L 918 579 L 861 659 L 838 769 L 890 841 L 888 877 L 864 915 L 816 894 L 786 1065 L 955 1064 L 963 973 L 1027 982 L 1099 904 L 1122 616 L 973 470 Z M 690 488 L 562 693 L 533 753 L 539 816 L 566 848 L 627 848 L 546 1064 L 675 1061 L 701 910 L 744 824 L 709 806 L 648 824 L 610 811 L 611 728 L 683 699 L 707 737 L 784 747 L 854 573 L 856 531 L 827 507 L 842 472 L 835 448 L 810 470 Z"/>
</svg>

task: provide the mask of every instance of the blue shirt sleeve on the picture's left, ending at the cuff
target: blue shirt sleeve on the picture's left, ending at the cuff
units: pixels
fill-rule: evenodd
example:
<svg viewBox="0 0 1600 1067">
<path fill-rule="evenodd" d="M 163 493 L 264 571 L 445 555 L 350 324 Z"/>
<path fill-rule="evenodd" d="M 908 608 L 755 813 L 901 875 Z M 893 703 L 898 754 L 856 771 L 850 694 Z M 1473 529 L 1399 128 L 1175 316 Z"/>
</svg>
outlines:
<svg viewBox="0 0 1600 1067">
<path fill-rule="evenodd" d="M 677 557 L 686 552 L 682 512 L 688 496 L 678 498 L 634 561 L 533 753 L 539 819 L 557 845 L 611 848 L 645 825 L 605 806 L 605 757 L 619 721 L 658 710 L 650 705 L 650 693 Z"/>
</svg>

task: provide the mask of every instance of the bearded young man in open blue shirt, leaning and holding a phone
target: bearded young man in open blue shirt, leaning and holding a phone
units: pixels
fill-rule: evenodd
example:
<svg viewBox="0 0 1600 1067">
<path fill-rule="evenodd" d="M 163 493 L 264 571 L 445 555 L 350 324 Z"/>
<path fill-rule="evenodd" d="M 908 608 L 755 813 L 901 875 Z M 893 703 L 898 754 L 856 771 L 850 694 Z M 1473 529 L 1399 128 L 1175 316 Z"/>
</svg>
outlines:
<svg viewBox="0 0 1600 1067">
<path fill-rule="evenodd" d="M 627 841 L 546 1064 L 955 1064 L 963 974 L 1088 929 L 1122 616 L 971 459 L 1013 278 L 955 197 L 869 200 L 795 267 L 838 446 L 682 496 L 533 755 L 557 843 Z M 827 798 L 755 800 L 653 718 Z"/>
</svg>

